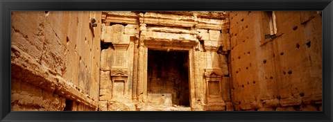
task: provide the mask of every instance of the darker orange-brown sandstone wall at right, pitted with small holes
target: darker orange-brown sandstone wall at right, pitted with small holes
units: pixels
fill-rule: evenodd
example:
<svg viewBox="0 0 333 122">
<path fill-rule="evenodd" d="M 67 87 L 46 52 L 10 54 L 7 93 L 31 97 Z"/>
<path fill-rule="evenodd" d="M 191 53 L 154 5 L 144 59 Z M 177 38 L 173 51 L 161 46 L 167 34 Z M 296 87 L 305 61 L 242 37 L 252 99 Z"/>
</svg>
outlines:
<svg viewBox="0 0 333 122">
<path fill-rule="evenodd" d="M 271 14 L 230 12 L 234 110 L 322 110 L 321 12 Z"/>
</svg>

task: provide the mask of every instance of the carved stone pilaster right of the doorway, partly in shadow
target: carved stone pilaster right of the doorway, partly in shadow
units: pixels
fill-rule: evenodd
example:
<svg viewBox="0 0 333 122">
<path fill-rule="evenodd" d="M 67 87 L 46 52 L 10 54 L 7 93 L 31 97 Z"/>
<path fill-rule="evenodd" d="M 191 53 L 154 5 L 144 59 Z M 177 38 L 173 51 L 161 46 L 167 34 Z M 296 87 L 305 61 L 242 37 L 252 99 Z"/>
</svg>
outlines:
<svg viewBox="0 0 333 122">
<path fill-rule="evenodd" d="M 219 55 L 216 53 L 222 45 L 219 36 L 219 30 L 209 30 L 209 40 L 204 40 L 207 61 L 204 72 L 206 96 L 204 110 L 225 110 L 221 94 L 223 72 L 219 67 Z"/>
</svg>

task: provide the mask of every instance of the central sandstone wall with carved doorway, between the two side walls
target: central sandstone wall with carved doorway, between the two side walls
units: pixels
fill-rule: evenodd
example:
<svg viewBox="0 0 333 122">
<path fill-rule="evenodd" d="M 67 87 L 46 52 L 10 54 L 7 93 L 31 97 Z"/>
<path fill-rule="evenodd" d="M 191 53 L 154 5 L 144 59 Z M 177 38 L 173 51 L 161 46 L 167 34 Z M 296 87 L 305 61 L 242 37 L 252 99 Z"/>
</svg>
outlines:
<svg viewBox="0 0 333 122">
<path fill-rule="evenodd" d="M 228 12 L 112 11 L 102 12 L 102 21 L 99 110 L 233 110 L 227 64 Z M 189 107 L 178 108 L 174 82 L 163 83 L 187 79 L 174 69 L 157 73 L 160 69 L 151 64 L 162 55 L 153 58 L 148 50 L 188 52 L 188 62 L 183 64 L 188 83 L 182 89 L 188 87 L 189 94 L 180 98 L 187 97 Z M 165 74 L 158 78 L 149 73 Z"/>
</svg>

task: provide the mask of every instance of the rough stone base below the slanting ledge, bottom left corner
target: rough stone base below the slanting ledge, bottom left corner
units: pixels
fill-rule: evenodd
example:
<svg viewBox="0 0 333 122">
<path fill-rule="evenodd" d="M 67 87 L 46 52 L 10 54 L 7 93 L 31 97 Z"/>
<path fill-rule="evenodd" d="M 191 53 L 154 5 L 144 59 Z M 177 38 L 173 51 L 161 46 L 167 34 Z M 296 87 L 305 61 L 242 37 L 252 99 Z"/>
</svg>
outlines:
<svg viewBox="0 0 333 122">
<path fill-rule="evenodd" d="M 65 98 L 12 78 L 12 111 L 62 111 Z"/>
</svg>

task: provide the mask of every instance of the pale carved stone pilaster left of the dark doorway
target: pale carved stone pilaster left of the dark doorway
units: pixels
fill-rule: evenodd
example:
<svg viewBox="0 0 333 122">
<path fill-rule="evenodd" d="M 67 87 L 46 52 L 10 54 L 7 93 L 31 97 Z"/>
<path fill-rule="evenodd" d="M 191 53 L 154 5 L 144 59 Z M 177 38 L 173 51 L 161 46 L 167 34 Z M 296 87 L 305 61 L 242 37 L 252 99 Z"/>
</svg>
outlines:
<svg viewBox="0 0 333 122">
<path fill-rule="evenodd" d="M 123 97 L 128 93 L 128 46 L 130 45 L 130 36 L 125 33 L 125 26 L 114 24 L 112 26 L 104 26 L 104 42 L 112 43 L 114 47 L 110 76 L 112 82 L 112 98 Z M 130 31 L 126 31 L 130 33 Z M 133 35 L 133 33 L 132 33 Z"/>
</svg>

